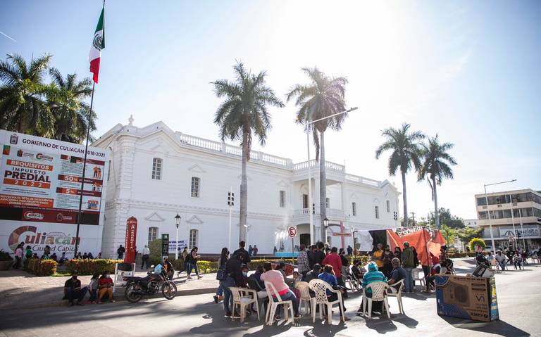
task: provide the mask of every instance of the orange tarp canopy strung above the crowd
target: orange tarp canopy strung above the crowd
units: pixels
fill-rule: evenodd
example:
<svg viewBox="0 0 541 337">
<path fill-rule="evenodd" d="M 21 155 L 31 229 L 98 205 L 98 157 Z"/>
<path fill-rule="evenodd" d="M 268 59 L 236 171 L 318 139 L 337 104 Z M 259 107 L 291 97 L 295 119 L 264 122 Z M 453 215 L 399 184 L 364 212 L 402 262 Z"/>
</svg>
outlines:
<svg viewBox="0 0 541 337">
<path fill-rule="evenodd" d="M 421 265 L 430 265 L 428 252 L 435 256 L 440 255 L 440 247 L 445 244 L 440 231 L 429 229 L 428 227 L 399 227 L 396 229 L 387 229 L 387 242 L 391 251 L 399 246 L 404 249 L 404 242 L 408 241 L 411 247 L 417 250 L 417 257 Z"/>
</svg>

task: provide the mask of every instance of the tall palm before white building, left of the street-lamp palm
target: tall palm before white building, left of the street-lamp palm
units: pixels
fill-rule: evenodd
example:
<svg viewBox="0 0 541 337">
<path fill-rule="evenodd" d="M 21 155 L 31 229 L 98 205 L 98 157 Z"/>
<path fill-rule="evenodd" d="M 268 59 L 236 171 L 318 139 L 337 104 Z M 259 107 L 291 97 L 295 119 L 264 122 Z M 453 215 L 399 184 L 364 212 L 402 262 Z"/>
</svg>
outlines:
<svg viewBox="0 0 541 337">
<path fill-rule="evenodd" d="M 235 81 L 217 80 L 213 82 L 218 98 L 225 98 L 220 104 L 214 122 L 220 127 L 222 141 L 242 139 L 242 177 L 240 182 L 240 221 L 239 241 L 246 241 L 246 218 L 248 203 L 248 184 L 246 167 L 250 160 L 252 133 L 261 145 L 265 144 L 267 132 L 271 129 L 270 113 L 267 106 L 282 108 L 284 104 L 266 87 L 266 72 L 252 74 L 242 62 L 233 66 Z"/>
</svg>

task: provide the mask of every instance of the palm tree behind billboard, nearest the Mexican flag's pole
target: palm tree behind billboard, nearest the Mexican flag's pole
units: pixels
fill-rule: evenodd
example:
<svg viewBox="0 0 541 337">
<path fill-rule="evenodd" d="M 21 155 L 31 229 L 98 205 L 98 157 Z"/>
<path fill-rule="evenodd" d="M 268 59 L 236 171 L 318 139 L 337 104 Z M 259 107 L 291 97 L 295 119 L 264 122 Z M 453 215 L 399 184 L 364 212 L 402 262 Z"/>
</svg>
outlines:
<svg viewBox="0 0 541 337">
<path fill-rule="evenodd" d="M 62 141 L 81 143 L 87 136 L 89 106 L 84 101 L 92 94 L 89 77 L 77 81 L 77 74 L 64 78 L 56 68 L 49 69 L 52 82 L 47 101 L 54 115 L 54 137 Z M 90 115 L 90 130 L 96 129 L 96 114 Z M 90 139 L 92 141 L 92 139 Z"/>
</svg>

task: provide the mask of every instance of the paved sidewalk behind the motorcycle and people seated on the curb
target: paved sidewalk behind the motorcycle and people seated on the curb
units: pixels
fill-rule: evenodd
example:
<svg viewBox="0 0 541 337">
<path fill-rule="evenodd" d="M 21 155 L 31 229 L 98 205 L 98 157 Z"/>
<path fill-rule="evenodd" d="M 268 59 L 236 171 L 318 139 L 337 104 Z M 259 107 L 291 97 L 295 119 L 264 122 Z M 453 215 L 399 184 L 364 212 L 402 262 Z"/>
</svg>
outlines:
<svg viewBox="0 0 541 337">
<path fill-rule="evenodd" d="M 218 288 L 216 273 L 203 274 L 202 279 L 186 279 L 186 273 L 175 274 L 173 281 L 177 285 L 177 296 L 214 293 Z M 135 276 L 147 276 L 147 272 L 136 272 Z M 82 286 L 90 282 L 89 275 L 79 276 Z M 0 310 L 29 309 L 32 307 L 51 307 L 66 305 L 63 286 L 70 276 L 35 276 L 23 270 L 0 272 Z M 115 299 L 125 300 L 124 288 L 116 287 Z M 156 297 L 161 296 L 158 293 Z"/>
</svg>

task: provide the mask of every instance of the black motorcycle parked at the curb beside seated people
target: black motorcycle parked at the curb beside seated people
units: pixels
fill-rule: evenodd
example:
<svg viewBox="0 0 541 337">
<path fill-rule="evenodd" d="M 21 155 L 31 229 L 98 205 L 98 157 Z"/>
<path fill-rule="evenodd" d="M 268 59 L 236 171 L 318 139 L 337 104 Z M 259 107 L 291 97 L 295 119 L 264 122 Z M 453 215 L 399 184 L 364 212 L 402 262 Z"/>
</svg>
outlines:
<svg viewBox="0 0 541 337">
<path fill-rule="evenodd" d="M 154 295 L 160 290 L 163 297 L 168 300 L 173 300 L 177 294 L 177 286 L 168 280 L 165 270 L 161 274 L 147 272 L 146 277 L 128 276 L 123 280 L 126 281 L 124 295 L 130 303 L 137 303 L 143 295 Z"/>
</svg>

